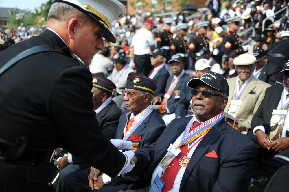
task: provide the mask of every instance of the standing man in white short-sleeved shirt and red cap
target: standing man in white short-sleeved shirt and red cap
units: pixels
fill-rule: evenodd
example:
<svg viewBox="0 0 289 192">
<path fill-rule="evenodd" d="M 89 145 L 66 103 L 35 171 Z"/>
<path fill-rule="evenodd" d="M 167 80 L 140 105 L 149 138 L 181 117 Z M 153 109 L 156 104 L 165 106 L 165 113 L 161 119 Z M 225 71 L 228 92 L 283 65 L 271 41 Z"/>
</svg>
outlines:
<svg viewBox="0 0 289 192">
<path fill-rule="evenodd" d="M 139 74 L 148 75 L 152 70 L 148 54 L 156 48 L 152 36 L 152 29 L 154 27 L 156 25 L 154 25 L 153 21 L 147 19 L 143 22 L 143 28 L 137 31 L 132 38 L 132 60 Z"/>
</svg>

